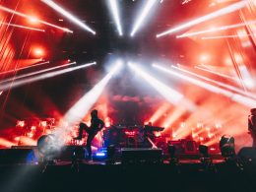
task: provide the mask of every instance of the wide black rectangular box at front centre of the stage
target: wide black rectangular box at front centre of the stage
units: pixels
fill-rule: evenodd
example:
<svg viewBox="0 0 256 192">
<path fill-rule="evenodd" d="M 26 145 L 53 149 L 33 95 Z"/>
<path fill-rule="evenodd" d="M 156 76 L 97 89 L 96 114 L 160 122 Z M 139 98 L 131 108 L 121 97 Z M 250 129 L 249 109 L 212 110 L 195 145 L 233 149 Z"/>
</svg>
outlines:
<svg viewBox="0 0 256 192">
<path fill-rule="evenodd" d="M 121 160 L 123 164 L 149 164 L 162 162 L 161 149 L 124 148 L 121 152 Z"/>
</svg>

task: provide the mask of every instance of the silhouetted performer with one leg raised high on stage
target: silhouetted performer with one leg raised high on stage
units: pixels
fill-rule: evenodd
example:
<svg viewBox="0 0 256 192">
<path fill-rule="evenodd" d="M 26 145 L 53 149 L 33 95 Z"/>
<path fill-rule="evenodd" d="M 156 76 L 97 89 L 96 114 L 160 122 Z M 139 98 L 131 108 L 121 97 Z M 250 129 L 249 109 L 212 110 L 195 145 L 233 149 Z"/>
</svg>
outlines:
<svg viewBox="0 0 256 192">
<path fill-rule="evenodd" d="M 88 133 L 87 138 L 87 152 L 88 158 L 92 159 L 92 142 L 96 137 L 98 131 L 104 127 L 104 122 L 97 117 L 97 110 L 92 110 L 91 112 L 91 127 L 88 127 L 85 123 L 81 122 L 79 125 L 79 136 L 74 138 L 76 140 L 81 140 L 83 135 L 83 130 L 86 130 Z"/>
</svg>

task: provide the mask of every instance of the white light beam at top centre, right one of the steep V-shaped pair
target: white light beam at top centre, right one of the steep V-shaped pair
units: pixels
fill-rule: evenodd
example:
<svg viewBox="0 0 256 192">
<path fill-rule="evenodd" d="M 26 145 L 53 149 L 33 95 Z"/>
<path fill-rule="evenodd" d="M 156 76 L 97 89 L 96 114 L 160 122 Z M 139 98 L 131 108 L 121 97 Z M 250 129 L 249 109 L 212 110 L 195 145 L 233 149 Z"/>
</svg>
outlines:
<svg viewBox="0 0 256 192">
<path fill-rule="evenodd" d="M 139 28 L 142 26 L 144 20 L 146 19 L 147 15 L 149 14 L 149 12 L 151 11 L 151 9 L 153 8 L 154 4 L 157 3 L 158 0 L 148 0 L 147 4 L 145 5 L 141 15 L 139 16 L 139 18 L 137 19 L 133 30 L 131 32 L 131 36 L 134 36 L 134 34 L 139 30 Z"/>
</svg>

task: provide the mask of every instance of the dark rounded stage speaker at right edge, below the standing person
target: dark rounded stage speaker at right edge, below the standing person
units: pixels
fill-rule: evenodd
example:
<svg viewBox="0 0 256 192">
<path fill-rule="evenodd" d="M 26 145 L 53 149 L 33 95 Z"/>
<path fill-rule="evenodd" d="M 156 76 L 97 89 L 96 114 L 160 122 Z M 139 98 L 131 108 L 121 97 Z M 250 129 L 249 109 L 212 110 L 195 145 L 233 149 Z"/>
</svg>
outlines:
<svg viewBox="0 0 256 192">
<path fill-rule="evenodd" d="M 237 157 L 240 160 L 243 160 L 244 162 L 252 162 L 256 164 L 256 148 L 251 148 L 251 147 L 242 148 L 238 152 Z"/>
</svg>

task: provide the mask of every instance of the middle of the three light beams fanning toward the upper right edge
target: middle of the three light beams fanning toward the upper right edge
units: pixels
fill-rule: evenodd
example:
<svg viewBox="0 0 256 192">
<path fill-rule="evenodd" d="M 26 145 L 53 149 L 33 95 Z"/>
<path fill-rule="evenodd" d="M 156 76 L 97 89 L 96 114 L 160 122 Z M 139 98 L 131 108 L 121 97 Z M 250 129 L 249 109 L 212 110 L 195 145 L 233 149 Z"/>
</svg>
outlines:
<svg viewBox="0 0 256 192">
<path fill-rule="evenodd" d="M 242 24 L 234 24 L 234 25 L 229 25 L 229 26 L 223 26 L 220 28 L 209 29 L 209 30 L 205 30 L 205 31 L 201 31 L 201 32 L 186 32 L 184 34 L 177 35 L 176 38 L 184 38 L 184 37 L 195 36 L 198 34 L 211 33 L 211 32 L 221 32 L 221 31 L 226 31 L 226 30 L 230 30 L 230 29 L 244 27 L 244 26 L 251 25 L 251 24 L 256 24 L 256 21 L 251 21 L 251 22 L 242 23 Z"/>
</svg>

